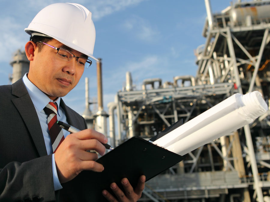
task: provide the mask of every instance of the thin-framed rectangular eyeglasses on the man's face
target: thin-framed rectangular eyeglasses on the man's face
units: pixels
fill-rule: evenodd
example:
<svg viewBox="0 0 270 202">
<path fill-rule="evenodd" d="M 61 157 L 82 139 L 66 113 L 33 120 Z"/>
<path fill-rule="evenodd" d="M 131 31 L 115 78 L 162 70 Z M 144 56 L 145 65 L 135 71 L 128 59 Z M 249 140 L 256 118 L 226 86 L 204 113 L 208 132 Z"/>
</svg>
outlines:
<svg viewBox="0 0 270 202">
<path fill-rule="evenodd" d="M 77 65 L 79 67 L 88 68 L 92 64 L 92 61 L 91 60 L 89 60 L 87 58 L 84 58 L 84 57 L 77 57 L 77 56 L 73 55 L 72 53 L 70 53 L 69 51 L 67 51 L 64 48 L 56 48 L 56 47 L 54 47 L 52 45 L 49 45 L 49 44 L 46 44 L 46 43 L 44 43 L 42 41 L 36 41 L 36 42 L 41 42 L 41 43 L 43 43 L 45 45 L 48 45 L 49 47 L 52 47 L 55 50 L 57 50 L 57 54 L 56 55 L 59 58 L 61 58 L 62 60 L 70 61 L 73 57 L 75 57 L 76 58 L 76 61 L 77 61 Z"/>
</svg>

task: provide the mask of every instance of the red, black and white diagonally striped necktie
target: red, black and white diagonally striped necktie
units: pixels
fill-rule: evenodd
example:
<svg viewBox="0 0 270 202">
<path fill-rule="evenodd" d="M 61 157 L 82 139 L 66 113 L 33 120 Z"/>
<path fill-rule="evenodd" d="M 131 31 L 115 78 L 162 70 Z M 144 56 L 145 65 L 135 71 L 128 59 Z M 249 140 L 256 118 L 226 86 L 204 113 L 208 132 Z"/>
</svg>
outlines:
<svg viewBox="0 0 270 202">
<path fill-rule="evenodd" d="M 47 122 L 52 142 L 52 151 L 55 153 L 58 146 L 64 140 L 62 128 L 57 124 L 57 104 L 49 102 L 46 107 L 44 107 L 44 112 L 48 115 Z"/>
</svg>

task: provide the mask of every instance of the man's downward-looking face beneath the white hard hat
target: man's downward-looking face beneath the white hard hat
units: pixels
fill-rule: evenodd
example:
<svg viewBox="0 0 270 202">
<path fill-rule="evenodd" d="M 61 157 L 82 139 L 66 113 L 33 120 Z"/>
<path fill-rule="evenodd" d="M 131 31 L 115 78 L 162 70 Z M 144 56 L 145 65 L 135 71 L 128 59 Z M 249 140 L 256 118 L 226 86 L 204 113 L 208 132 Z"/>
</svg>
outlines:
<svg viewBox="0 0 270 202">
<path fill-rule="evenodd" d="M 55 39 L 49 41 L 48 44 L 67 49 Z M 73 49 L 68 51 L 77 57 L 84 56 Z M 84 71 L 83 67 L 77 65 L 75 57 L 70 61 L 65 61 L 56 53 L 57 50 L 48 45 L 44 45 L 41 51 L 38 51 L 36 46 L 28 73 L 29 80 L 52 100 L 67 95 L 77 85 Z"/>
</svg>

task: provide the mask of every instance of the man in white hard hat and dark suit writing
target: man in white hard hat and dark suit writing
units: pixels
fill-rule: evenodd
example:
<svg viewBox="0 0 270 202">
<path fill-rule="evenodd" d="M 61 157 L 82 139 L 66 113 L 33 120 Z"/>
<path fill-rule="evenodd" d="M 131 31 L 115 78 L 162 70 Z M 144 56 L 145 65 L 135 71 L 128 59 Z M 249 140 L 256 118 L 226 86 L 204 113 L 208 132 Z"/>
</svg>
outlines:
<svg viewBox="0 0 270 202">
<path fill-rule="evenodd" d="M 95 162 L 97 154 L 87 151 L 103 155 L 107 138 L 85 129 L 85 120 L 60 98 L 91 65 L 88 57 L 97 60 L 95 27 L 85 7 L 57 3 L 42 9 L 25 31 L 31 35 L 25 45 L 29 73 L 12 85 L 0 86 L 0 201 L 61 201 L 65 198 L 61 193 L 72 193 L 63 190 L 62 183 L 83 170 L 104 170 Z M 82 131 L 59 130 L 55 135 L 55 120 Z M 133 189 L 124 178 L 124 192 L 116 183 L 110 186 L 116 198 L 107 190 L 102 194 L 109 201 L 137 201 L 144 182 L 141 176 Z"/>
</svg>

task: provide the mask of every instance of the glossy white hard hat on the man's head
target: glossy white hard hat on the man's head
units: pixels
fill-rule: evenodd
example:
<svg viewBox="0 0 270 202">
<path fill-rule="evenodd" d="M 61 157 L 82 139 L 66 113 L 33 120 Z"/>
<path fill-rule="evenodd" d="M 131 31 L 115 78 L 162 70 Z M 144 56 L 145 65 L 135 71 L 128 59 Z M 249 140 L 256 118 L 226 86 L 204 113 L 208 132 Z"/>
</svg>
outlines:
<svg viewBox="0 0 270 202">
<path fill-rule="evenodd" d="M 27 34 L 39 32 L 95 60 L 96 31 L 92 13 L 80 4 L 56 3 L 42 9 L 25 28 Z"/>
</svg>

